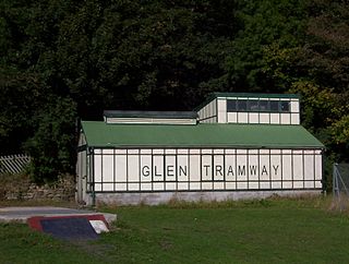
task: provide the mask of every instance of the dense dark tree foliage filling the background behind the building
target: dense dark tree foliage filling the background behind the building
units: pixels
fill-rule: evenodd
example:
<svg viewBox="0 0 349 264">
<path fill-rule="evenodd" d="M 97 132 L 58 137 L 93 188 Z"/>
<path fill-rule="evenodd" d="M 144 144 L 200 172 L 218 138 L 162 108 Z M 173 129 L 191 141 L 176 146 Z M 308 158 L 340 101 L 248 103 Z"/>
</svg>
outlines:
<svg viewBox="0 0 349 264">
<path fill-rule="evenodd" d="M 2 0 L 0 154 L 73 172 L 75 119 L 191 110 L 209 92 L 299 93 L 328 156 L 349 148 L 349 4 L 296 0 Z"/>
</svg>

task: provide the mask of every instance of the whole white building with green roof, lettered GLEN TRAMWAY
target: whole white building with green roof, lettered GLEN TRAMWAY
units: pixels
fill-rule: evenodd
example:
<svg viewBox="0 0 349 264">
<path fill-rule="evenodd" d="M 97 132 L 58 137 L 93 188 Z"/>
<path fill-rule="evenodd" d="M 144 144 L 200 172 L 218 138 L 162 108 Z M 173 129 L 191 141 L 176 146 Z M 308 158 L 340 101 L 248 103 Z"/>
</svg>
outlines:
<svg viewBox="0 0 349 264">
<path fill-rule="evenodd" d="M 215 93 L 193 112 L 82 121 L 77 201 L 158 204 L 322 191 L 324 145 L 297 95 Z"/>
</svg>

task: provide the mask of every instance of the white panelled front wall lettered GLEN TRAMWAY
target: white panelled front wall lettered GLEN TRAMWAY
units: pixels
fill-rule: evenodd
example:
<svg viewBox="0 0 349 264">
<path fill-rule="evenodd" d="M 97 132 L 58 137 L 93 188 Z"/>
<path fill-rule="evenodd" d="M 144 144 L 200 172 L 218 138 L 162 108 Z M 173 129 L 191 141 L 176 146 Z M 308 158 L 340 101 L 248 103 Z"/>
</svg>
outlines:
<svg viewBox="0 0 349 264">
<path fill-rule="evenodd" d="M 95 149 L 96 192 L 322 188 L 320 149 Z"/>
</svg>

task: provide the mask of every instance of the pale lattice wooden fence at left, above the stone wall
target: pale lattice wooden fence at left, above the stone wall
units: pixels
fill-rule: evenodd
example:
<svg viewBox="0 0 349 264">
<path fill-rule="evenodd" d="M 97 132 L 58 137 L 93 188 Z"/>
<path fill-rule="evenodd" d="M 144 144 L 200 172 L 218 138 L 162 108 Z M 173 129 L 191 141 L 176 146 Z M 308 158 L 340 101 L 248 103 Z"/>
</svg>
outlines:
<svg viewBox="0 0 349 264">
<path fill-rule="evenodd" d="M 0 156 L 0 173 L 19 173 L 31 161 L 27 155 Z"/>
</svg>

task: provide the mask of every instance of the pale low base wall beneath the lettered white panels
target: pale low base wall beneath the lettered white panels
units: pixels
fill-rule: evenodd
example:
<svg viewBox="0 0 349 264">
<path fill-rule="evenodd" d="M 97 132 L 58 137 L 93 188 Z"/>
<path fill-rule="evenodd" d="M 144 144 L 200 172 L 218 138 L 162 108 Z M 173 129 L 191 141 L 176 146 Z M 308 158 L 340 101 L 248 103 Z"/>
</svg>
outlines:
<svg viewBox="0 0 349 264">
<path fill-rule="evenodd" d="M 266 199 L 273 195 L 279 196 L 299 196 L 299 195 L 320 195 L 321 190 L 294 190 L 294 191 L 239 191 L 239 192 L 152 192 L 152 193 L 96 193 L 95 203 L 113 204 L 113 205 L 158 205 L 170 201 L 237 201 Z M 88 205 L 93 205 L 93 197 L 89 196 Z"/>
</svg>

